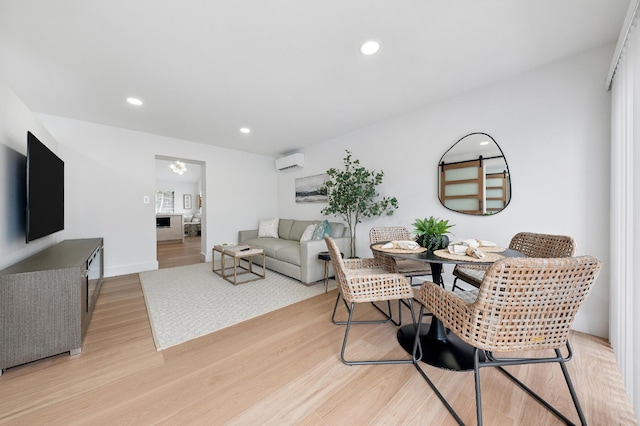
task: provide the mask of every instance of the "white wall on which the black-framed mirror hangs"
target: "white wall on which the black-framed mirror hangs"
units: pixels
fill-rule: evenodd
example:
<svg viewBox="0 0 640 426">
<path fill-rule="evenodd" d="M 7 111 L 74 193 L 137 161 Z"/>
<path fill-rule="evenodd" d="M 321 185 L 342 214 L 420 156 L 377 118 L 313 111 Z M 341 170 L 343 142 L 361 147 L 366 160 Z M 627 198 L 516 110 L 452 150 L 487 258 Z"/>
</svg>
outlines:
<svg viewBox="0 0 640 426">
<path fill-rule="evenodd" d="M 344 150 L 385 172 L 382 195 L 398 198 L 391 217 L 359 225 L 358 255 L 369 257 L 372 226 L 404 225 L 434 215 L 456 226 L 455 238 L 508 245 L 519 231 L 573 236 L 578 254 L 604 269 L 576 318 L 578 330 L 608 335 L 610 95 L 604 89 L 613 45 L 508 81 L 447 99 L 305 150 L 305 168 L 278 175 L 281 217 L 319 218 L 326 204 L 296 204 L 294 179 L 342 167 Z M 437 82 L 433 82 L 437 84 Z M 511 204 L 495 216 L 449 211 L 437 198 L 437 164 L 459 138 L 494 137 L 511 171 Z M 450 269 L 450 268 L 449 268 Z"/>
</svg>

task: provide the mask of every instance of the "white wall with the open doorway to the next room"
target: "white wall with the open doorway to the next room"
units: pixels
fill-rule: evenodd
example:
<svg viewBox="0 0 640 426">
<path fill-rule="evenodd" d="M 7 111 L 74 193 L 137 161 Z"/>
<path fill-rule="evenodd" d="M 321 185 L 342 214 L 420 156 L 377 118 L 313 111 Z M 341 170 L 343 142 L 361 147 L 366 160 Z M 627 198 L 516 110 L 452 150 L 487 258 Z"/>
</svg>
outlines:
<svg viewBox="0 0 640 426">
<path fill-rule="evenodd" d="M 147 133 L 37 115 L 65 161 L 65 238 L 103 237 L 105 275 L 157 269 L 156 155 L 203 161 L 203 256 L 276 214 L 273 159 Z M 256 178 L 258 177 L 258 178 Z M 149 197 L 144 204 L 143 198 Z M 194 200 L 195 201 L 195 200 Z"/>
</svg>

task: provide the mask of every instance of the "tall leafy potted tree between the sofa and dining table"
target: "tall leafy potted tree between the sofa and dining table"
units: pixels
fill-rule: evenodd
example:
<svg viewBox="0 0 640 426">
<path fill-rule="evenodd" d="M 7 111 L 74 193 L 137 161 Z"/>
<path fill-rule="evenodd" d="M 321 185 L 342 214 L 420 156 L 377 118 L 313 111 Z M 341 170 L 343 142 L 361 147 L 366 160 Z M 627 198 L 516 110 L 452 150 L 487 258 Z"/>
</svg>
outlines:
<svg viewBox="0 0 640 426">
<path fill-rule="evenodd" d="M 322 209 L 323 215 L 342 217 L 349 226 L 351 237 L 350 257 L 356 256 L 356 227 L 365 217 L 391 216 L 398 208 L 396 197 L 382 197 L 376 187 L 382 183 L 383 171 L 370 171 L 352 158 L 346 150 L 344 170 L 327 170 L 329 178 L 325 182 L 329 205 Z"/>
</svg>

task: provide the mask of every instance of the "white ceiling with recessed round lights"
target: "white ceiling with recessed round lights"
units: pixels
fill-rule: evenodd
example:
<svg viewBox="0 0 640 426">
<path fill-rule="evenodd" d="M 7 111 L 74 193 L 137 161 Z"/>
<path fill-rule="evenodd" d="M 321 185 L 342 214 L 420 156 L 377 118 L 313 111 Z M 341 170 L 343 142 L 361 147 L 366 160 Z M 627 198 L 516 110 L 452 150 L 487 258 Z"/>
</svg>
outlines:
<svg viewBox="0 0 640 426">
<path fill-rule="evenodd" d="M 614 43 L 628 4 L 0 0 L 0 78 L 37 113 L 277 157 Z"/>
</svg>

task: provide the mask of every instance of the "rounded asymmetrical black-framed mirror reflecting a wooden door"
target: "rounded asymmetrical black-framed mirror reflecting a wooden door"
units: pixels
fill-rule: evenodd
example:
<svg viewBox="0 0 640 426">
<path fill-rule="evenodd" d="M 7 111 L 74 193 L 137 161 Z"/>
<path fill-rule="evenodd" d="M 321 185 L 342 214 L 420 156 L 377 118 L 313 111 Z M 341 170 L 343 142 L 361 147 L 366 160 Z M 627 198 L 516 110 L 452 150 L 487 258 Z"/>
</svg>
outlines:
<svg viewBox="0 0 640 426">
<path fill-rule="evenodd" d="M 471 133 L 440 159 L 439 198 L 449 210 L 490 215 L 511 200 L 509 167 L 496 141 L 486 133 Z"/>
</svg>

